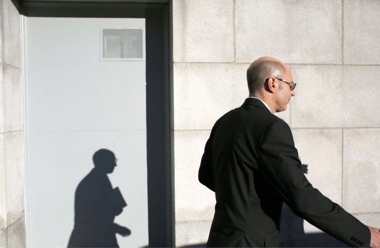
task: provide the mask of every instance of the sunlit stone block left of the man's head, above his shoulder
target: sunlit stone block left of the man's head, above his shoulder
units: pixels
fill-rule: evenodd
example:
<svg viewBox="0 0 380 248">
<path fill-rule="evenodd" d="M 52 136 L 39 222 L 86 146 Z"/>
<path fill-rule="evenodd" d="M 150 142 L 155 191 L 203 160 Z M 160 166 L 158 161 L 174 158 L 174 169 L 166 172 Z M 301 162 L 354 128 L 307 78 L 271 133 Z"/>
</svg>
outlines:
<svg viewBox="0 0 380 248">
<path fill-rule="evenodd" d="M 211 130 L 249 96 L 249 64 L 175 63 L 174 129 Z"/>
</svg>

